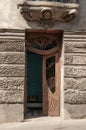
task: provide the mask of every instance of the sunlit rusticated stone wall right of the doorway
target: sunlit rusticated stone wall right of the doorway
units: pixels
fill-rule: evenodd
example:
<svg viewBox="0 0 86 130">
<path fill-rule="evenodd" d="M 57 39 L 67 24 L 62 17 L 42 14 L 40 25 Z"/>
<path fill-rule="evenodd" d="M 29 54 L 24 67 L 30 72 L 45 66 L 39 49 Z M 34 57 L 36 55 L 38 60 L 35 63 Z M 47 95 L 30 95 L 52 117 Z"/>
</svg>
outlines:
<svg viewBox="0 0 86 130">
<path fill-rule="evenodd" d="M 64 32 L 65 118 L 86 118 L 86 32 Z"/>
</svg>

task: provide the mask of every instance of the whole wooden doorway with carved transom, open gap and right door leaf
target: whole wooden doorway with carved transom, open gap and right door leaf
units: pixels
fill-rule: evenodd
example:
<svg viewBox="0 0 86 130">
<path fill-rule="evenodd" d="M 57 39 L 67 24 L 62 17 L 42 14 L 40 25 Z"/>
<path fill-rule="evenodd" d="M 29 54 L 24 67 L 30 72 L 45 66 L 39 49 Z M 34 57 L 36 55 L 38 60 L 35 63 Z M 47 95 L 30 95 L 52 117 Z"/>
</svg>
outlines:
<svg viewBox="0 0 86 130">
<path fill-rule="evenodd" d="M 63 31 L 26 30 L 25 113 L 60 116 L 60 57 Z"/>
</svg>

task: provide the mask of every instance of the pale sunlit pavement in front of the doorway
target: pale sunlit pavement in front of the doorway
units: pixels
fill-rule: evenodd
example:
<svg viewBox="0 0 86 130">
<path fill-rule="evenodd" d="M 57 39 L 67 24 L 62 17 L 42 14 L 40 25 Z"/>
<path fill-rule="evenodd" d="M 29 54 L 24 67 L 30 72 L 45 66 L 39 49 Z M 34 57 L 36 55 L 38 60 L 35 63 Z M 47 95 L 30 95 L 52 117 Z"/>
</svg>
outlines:
<svg viewBox="0 0 86 130">
<path fill-rule="evenodd" d="M 86 130 L 86 120 L 60 120 L 56 117 L 31 118 L 26 122 L 0 124 L 0 130 Z"/>
</svg>

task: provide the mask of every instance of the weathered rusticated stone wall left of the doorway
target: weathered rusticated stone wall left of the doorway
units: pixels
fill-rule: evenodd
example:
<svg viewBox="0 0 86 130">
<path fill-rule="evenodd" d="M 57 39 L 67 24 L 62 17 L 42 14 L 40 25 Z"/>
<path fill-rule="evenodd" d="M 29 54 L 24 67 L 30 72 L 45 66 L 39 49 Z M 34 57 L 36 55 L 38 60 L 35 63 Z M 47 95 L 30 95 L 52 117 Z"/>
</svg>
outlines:
<svg viewBox="0 0 86 130">
<path fill-rule="evenodd" d="M 24 31 L 0 30 L 0 122 L 24 116 Z"/>
</svg>

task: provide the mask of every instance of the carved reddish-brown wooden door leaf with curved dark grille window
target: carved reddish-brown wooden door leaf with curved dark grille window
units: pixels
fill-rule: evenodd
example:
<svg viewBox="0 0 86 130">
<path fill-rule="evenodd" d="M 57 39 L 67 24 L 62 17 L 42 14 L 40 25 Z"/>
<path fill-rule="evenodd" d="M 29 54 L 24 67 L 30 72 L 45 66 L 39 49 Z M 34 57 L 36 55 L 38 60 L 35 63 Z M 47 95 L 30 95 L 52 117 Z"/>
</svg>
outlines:
<svg viewBox="0 0 86 130">
<path fill-rule="evenodd" d="M 43 57 L 43 114 L 60 114 L 59 53 Z"/>
</svg>

